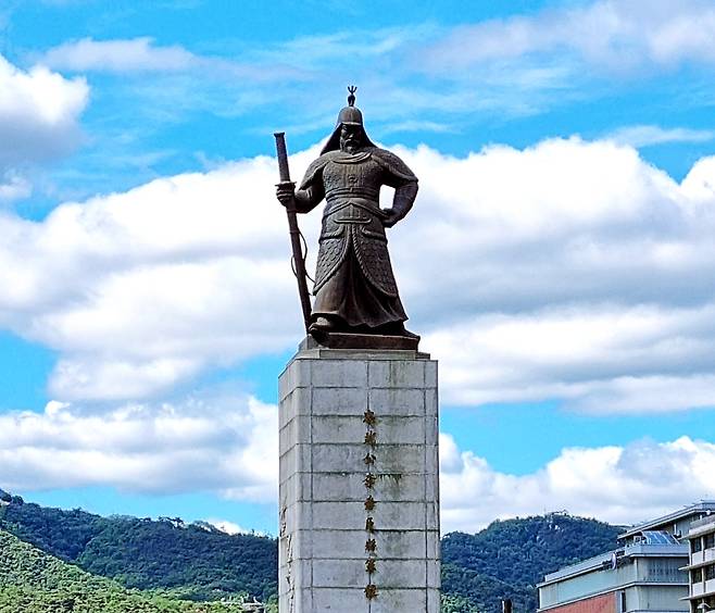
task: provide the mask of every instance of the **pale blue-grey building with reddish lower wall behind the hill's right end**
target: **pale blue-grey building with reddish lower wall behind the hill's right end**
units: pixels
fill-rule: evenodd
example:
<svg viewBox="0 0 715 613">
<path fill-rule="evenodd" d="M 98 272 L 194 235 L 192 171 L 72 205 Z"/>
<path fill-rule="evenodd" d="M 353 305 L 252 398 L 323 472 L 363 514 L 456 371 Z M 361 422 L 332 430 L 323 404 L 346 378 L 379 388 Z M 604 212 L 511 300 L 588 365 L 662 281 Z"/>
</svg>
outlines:
<svg viewBox="0 0 715 613">
<path fill-rule="evenodd" d="M 639 524 L 618 536 L 616 549 L 547 575 L 539 613 L 706 613 L 688 603 L 685 538 L 693 521 L 714 511 L 715 502 L 700 502 Z"/>
</svg>

